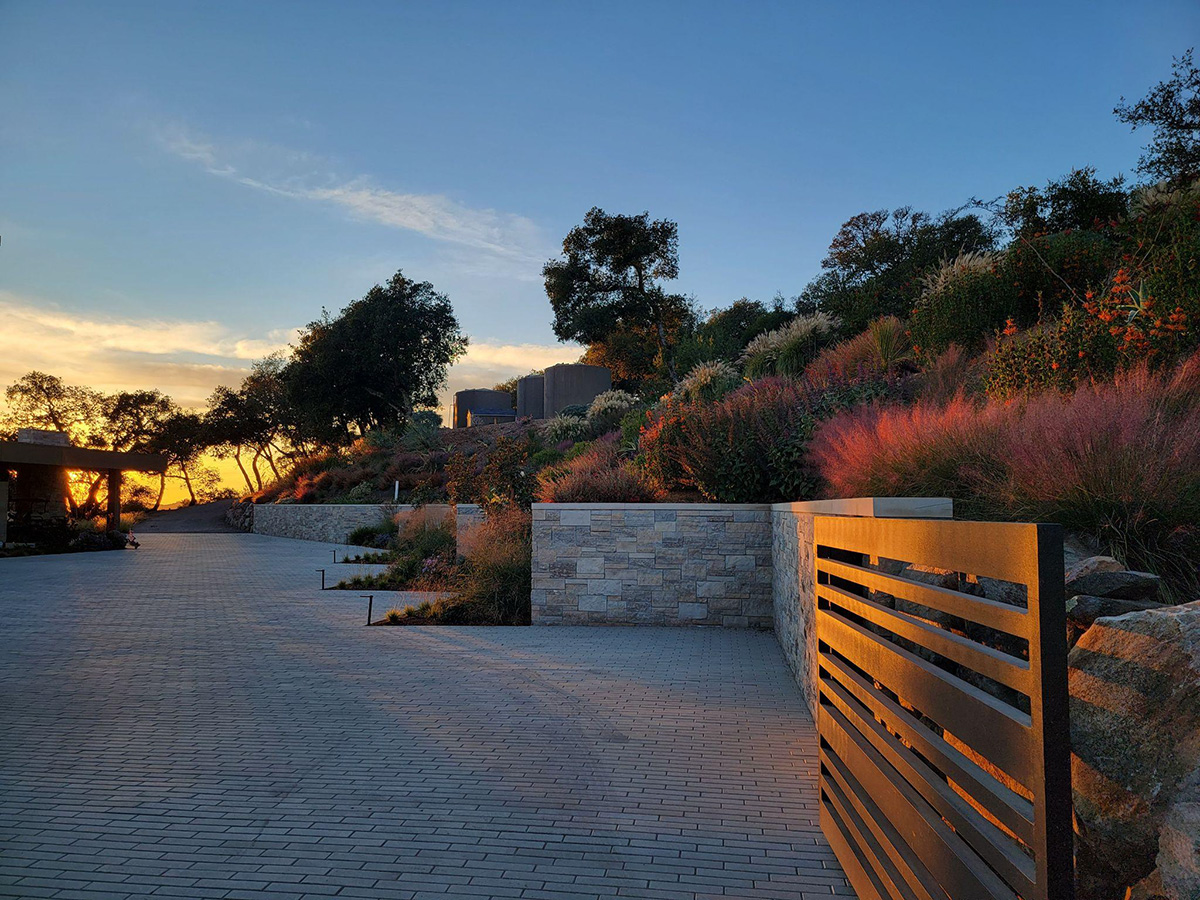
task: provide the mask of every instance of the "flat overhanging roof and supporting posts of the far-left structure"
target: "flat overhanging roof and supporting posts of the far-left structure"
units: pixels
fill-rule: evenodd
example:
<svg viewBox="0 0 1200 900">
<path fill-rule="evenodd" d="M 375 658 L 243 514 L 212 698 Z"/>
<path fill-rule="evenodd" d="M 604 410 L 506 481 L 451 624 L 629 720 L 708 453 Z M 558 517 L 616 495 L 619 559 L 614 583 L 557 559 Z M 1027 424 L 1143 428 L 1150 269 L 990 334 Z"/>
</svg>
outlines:
<svg viewBox="0 0 1200 900">
<path fill-rule="evenodd" d="M 70 470 L 101 472 L 108 479 L 107 527 L 121 527 L 121 473 L 144 472 L 160 474 L 167 470 L 167 457 L 157 454 L 126 454 L 113 450 L 92 450 L 66 444 L 37 444 L 0 440 L 0 544 L 8 533 L 8 481 L 16 470 L 38 473 L 43 482 L 65 479 Z M 60 474 L 61 473 L 61 474 Z M 49 478 L 46 478 L 49 475 Z M 54 498 L 47 498 L 52 500 Z"/>
</svg>

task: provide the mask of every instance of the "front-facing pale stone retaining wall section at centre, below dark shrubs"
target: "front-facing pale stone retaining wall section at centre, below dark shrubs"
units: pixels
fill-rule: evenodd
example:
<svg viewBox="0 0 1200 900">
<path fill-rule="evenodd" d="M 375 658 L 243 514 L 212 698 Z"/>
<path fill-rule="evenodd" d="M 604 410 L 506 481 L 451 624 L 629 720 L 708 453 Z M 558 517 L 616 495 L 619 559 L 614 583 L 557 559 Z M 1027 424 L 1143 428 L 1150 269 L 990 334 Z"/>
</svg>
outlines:
<svg viewBox="0 0 1200 900">
<path fill-rule="evenodd" d="M 772 625 L 766 504 L 533 508 L 533 623 Z"/>
</svg>

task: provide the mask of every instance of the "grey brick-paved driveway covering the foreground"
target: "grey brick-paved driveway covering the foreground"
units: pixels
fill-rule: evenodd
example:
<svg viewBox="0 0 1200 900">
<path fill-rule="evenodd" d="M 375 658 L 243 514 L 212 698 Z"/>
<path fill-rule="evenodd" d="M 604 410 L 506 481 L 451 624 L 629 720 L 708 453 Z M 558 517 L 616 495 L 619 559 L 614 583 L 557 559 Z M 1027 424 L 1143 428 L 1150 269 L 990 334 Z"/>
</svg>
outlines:
<svg viewBox="0 0 1200 900">
<path fill-rule="evenodd" d="M 368 629 L 329 559 L 0 560 L 0 896 L 848 894 L 770 635 Z"/>
</svg>

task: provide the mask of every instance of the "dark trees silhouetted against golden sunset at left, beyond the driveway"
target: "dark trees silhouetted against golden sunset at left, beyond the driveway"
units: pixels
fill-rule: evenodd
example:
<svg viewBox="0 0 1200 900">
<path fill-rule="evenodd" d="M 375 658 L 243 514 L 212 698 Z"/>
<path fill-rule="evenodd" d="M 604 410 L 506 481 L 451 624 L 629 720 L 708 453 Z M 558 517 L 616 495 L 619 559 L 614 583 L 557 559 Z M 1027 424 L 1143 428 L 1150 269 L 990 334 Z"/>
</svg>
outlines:
<svg viewBox="0 0 1200 900">
<path fill-rule="evenodd" d="M 233 460 L 254 492 L 318 448 L 402 430 L 414 409 L 437 404 L 446 368 L 466 348 L 445 294 L 396 272 L 337 316 L 323 311 L 290 353 L 259 360 L 235 388 L 218 386 L 203 410 L 157 390 L 103 394 L 30 372 L 5 390 L 0 437 L 36 427 L 78 446 L 162 454 L 169 466 L 146 505 L 158 509 L 168 480 L 194 504 L 220 488 L 206 455 Z M 103 490 L 100 473 L 77 482 L 66 498 L 72 515 L 96 515 Z"/>
</svg>

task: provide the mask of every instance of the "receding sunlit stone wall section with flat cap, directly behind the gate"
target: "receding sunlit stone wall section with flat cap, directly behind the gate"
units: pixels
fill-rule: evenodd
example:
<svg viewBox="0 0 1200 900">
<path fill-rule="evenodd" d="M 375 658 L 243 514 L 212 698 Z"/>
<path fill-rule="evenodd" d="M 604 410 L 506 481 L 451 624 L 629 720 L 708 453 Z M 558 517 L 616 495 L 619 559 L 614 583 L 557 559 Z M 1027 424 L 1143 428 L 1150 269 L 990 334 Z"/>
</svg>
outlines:
<svg viewBox="0 0 1200 900">
<path fill-rule="evenodd" d="M 812 521 L 816 516 L 950 518 L 946 498 L 858 497 L 846 500 L 776 503 L 770 508 L 772 608 L 775 637 L 814 718 L 817 712 L 816 586 Z"/>
</svg>

